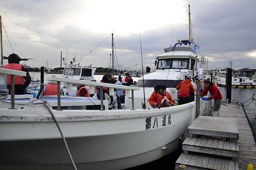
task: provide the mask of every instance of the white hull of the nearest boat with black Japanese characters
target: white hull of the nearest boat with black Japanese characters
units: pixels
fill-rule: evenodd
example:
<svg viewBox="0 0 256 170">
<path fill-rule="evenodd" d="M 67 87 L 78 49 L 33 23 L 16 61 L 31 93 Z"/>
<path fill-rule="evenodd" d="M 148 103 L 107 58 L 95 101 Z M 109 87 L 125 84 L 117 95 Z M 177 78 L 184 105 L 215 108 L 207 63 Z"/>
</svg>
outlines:
<svg viewBox="0 0 256 170">
<path fill-rule="evenodd" d="M 204 110 L 205 102 L 201 107 Z M 53 113 L 79 168 L 123 169 L 154 161 L 177 149 L 178 138 L 195 119 L 194 111 L 191 102 L 171 108 L 119 110 L 114 114 Z M 47 111 L 31 114 L 23 109 L 19 113 L 1 110 L 1 169 L 70 169 L 64 143 Z"/>
</svg>

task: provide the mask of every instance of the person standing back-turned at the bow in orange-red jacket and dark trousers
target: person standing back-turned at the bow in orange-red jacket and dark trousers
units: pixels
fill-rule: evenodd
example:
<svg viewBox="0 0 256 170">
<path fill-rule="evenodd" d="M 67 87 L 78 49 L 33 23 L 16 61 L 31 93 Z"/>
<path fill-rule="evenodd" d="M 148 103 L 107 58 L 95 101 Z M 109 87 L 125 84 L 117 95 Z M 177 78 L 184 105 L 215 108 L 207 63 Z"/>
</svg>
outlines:
<svg viewBox="0 0 256 170">
<path fill-rule="evenodd" d="M 189 93 L 191 92 L 193 95 L 195 94 L 195 89 L 193 88 L 193 85 L 191 84 L 191 78 L 186 77 L 182 82 L 180 82 L 176 89 L 178 91 L 178 103 L 179 105 L 183 105 L 186 103 L 189 103 Z"/>
</svg>

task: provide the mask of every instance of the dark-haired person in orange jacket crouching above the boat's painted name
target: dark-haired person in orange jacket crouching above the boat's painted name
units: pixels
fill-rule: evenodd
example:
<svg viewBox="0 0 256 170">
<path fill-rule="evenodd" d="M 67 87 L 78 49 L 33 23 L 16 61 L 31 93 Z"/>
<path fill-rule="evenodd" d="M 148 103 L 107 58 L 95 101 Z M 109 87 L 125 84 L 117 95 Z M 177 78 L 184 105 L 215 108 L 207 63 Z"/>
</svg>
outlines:
<svg viewBox="0 0 256 170">
<path fill-rule="evenodd" d="M 174 106 L 171 94 L 166 91 L 166 85 L 155 85 L 148 102 L 152 108 Z"/>
</svg>

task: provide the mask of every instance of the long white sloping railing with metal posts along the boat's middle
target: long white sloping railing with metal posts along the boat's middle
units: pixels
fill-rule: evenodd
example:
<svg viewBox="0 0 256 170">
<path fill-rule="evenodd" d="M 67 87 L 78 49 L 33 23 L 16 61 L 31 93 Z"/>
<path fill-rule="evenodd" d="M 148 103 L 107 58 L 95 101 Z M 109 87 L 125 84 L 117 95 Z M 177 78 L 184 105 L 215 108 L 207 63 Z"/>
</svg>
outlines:
<svg viewBox="0 0 256 170">
<path fill-rule="evenodd" d="M 57 82 L 58 87 L 58 111 L 61 111 L 61 82 L 67 83 L 67 92 L 72 91 L 73 84 L 81 84 L 89 86 L 89 94 L 94 94 L 94 87 L 100 87 L 100 104 L 101 110 L 103 111 L 103 87 L 109 88 L 109 95 L 114 95 L 114 89 L 123 89 L 125 90 L 125 95 L 130 98 L 130 91 L 131 91 L 131 110 L 134 110 L 134 91 L 140 90 L 140 88 L 125 86 L 125 85 L 115 85 L 103 82 L 93 82 L 87 80 L 75 80 L 75 79 L 68 79 L 68 78 L 61 78 L 61 77 L 47 77 L 48 81 L 55 81 Z"/>
</svg>

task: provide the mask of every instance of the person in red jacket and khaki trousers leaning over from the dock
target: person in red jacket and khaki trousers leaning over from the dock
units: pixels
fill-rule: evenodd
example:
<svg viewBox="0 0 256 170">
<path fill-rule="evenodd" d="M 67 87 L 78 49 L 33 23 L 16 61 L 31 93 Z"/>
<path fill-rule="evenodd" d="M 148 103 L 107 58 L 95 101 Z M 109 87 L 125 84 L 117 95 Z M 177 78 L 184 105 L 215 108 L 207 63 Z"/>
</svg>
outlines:
<svg viewBox="0 0 256 170">
<path fill-rule="evenodd" d="M 200 97 L 207 95 L 207 92 L 209 91 L 211 96 L 207 97 L 206 100 L 214 99 L 214 111 L 218 111 L 221 107 L 221 99 L 222 95 L 219 89 L 214 85 L 214 83 L 210 82 L 210 80 L 205 80 L 204 84 L 207 86 L 207 88 L 202 91 L 200 94 Z"/>
</svg>

